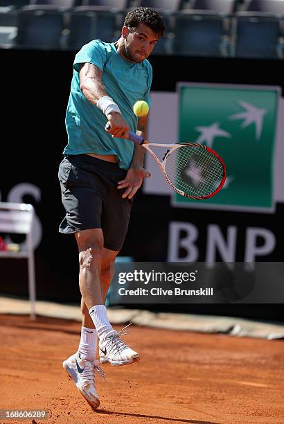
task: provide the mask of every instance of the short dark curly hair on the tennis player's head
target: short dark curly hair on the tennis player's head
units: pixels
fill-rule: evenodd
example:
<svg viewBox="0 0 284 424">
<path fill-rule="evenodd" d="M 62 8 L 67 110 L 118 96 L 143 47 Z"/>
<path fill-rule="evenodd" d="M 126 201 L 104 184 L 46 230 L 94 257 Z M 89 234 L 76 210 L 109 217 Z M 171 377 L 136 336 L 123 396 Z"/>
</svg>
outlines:
<svg viewBox="0 0 284 424">
<path fill-rule="evenodd" d="M 159 15 L 156 10 L 150 8 L 136 8 L 130 10 L 125 17 L 124 25 L 129 28 L 135 28 L 141 22 L 148 25 L 154 33 L 159 35 L 159 37 L 163 37 L 163 32 L 165 30 L 163 17 Z"/>
</svg>

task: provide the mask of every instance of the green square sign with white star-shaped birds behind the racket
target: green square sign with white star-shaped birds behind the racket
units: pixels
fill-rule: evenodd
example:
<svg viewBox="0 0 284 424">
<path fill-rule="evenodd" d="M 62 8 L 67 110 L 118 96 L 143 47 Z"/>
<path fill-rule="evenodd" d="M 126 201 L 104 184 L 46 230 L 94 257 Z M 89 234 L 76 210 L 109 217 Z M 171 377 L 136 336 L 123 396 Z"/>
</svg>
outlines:
<svg viewBox="0 0 284 424">
<path fill-rule="evenodd" d="M 222 190 L 208 200 L 175 193 L 175 206 L 274 210 L 278 87 L 179 85 L 179 142 L 213 148 L 227 166 Z"/>
</svg>

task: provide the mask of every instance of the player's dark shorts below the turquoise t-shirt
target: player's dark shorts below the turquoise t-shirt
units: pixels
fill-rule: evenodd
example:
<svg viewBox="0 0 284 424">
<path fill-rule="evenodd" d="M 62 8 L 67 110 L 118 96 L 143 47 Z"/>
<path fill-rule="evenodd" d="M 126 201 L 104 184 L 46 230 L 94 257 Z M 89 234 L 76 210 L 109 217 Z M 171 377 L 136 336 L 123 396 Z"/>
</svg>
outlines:
<svg viewBox="0 0 284 424">
<path fill-rule="evenodd" d="M 118 164 L 87 154 L 69 154 L 59 167 L 58 178 L 66 216 L 60 233 L 101 228 L 104 247 L 121 250 L 127 233 L 132 200 L 123 199 L 118 181 L 127 171 Z"/>
</svg>

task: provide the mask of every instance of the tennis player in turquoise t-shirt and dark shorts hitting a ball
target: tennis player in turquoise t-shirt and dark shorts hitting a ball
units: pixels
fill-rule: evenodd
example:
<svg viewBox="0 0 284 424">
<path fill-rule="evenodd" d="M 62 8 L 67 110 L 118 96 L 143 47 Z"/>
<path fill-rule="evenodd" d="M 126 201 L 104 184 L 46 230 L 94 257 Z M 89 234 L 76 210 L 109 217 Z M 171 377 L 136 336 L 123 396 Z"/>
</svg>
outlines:
<svg viewBox="0 0 284 424">
<path fill-rule="evenodd" d="M 123 246 L 133 196 L 150 174 L 143 168 L 144 149 L 127 140 L 145 128 L 134 115 L 137 100 L 150 103 L 152 67 L 148 56 L 164 26 L 150 8 L 127 13 L 121 37 L 89 42 L 76 55 L 66 111 L 68 144 L 58 177 L 66 216 L 60 233 L 74 233 L 79 250 L 82 331 L 78 351 L 63 362 L 78 390 L 96 409 L 96 361 L 127 365 L 139 354 L 127 346 L 107 319 L 105 299 L 110 265 Z M 110 128 L 105 131 L 109 121 Z"/>
</svg>

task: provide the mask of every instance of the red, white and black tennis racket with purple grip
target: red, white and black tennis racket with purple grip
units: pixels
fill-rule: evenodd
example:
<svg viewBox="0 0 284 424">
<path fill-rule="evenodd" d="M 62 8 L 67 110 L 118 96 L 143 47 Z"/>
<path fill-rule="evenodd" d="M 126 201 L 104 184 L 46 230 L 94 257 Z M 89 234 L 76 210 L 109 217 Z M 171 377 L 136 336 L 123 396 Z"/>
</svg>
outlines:
<svg viewBox="0 0 284 424">
<path fill-rule="evenodd" d="M 106 129 L 109 125 L 106 125 Z M 208 199 L 226 180 L 226 166 L 218 153 L 198 143 L 159 144 L 129 132 L 128 139 L 147 150 L 159 165 L 170 186 L 181 196 Z M 161 150 L 161 160 L 152 148 Z"/>
</svg>

